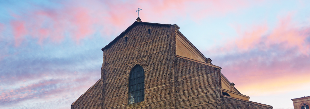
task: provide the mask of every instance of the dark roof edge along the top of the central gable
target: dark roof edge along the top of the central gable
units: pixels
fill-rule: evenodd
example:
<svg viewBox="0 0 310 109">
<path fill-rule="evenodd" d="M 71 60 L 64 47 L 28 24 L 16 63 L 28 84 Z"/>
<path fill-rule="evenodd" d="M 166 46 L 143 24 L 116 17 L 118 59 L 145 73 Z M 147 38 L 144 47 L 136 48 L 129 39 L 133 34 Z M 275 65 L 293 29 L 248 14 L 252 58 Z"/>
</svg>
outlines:
<svg viewBox="0 0 310 109">
<path fill-rule="evenodd" d="M 120 39 L 121 37 L 123 37 L 128 31 L 130 31 L 133 27 L 135 27 L 135 25 L 138 24 L 145 24 L 145 25 L 160 25 L 160 26 L 167 26 L 170 27 L 171 24 L 160 24 L 160 23 L 149 23 L 149 22 L 139 22 L 139 21 L 135 21 L 133 24 L 131 24 L 127 29 L 125 29 L 125 31 L 123 31 L 120 35 L 118 35 L 113 41 L 111 41 L 108 45 L 106 45 L 104 48 L 102 48 L 101 50 L 104 51 L 104 49 L 108 49 L 113 43 L 115 43 L 118 39 Z M 174 24 L 176 25 L 176 24 Z M 178 25 L 176 25 L 178 26 Z M 179 27 L 179 26 L 178 26 Z"/>
</svg>

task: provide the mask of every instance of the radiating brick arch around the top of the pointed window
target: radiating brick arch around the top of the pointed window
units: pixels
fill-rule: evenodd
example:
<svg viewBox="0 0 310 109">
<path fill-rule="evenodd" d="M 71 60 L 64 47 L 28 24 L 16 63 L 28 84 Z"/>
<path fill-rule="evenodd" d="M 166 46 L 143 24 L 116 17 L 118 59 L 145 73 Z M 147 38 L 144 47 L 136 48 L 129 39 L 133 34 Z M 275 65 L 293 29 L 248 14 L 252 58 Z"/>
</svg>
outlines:
<svg viewBox="0 0 310 109">
<path fill-rule="evenodd" d="M 127 69 L 126 69 L 126 75 L 127 75 L 127 77 L 126 78 L 128 78 L 129 79 L 129 73 L 130 73 L 130 71 L 131 71 L 131 69 L 132 68 L 134 68 L 135 67 L 135 65 L 140 65 L 142 68 L 143 68 L 143 70 L 144 70 L 144 75 L 147 75 L 148 74 L 148 66 L 147 66 L 147 64 L 145 63 L 145 61 L 142 59 L 136 59 L 136 60 L 134 60 L 133 62 L 131 62 L 131 64 L 129 64 L 129 66 L 127 67 Z"/>
</svg>

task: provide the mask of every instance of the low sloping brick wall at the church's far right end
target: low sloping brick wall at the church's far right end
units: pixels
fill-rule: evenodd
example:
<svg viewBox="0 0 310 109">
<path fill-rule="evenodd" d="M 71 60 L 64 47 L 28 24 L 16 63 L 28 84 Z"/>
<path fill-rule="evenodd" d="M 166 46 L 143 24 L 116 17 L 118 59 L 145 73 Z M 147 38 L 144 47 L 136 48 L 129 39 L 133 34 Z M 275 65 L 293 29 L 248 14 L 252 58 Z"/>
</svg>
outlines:
<svg viewBox="0 0 310 109">
<path fill-rule="evenodd" d="M 251 101 L 245 101 L 241 99 L 234 99 L 232 97 L 222 96 L 222 109 L 272 109 L 272 106 L 268 106 Z"/>
</svg>

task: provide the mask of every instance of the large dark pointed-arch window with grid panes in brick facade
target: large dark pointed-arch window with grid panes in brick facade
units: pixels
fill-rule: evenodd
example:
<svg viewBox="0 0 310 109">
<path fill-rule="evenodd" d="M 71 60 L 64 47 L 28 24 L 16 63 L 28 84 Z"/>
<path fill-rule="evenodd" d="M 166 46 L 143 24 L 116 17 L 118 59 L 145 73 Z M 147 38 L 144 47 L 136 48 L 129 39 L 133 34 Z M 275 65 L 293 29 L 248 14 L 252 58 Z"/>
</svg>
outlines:
<svg viewBox="0 0 310 109">
<path fill-rule="evenodd" d="M 135 65 L 129 74 L 128 104 L 144 101 L 144 70 Z"/>
</svg>

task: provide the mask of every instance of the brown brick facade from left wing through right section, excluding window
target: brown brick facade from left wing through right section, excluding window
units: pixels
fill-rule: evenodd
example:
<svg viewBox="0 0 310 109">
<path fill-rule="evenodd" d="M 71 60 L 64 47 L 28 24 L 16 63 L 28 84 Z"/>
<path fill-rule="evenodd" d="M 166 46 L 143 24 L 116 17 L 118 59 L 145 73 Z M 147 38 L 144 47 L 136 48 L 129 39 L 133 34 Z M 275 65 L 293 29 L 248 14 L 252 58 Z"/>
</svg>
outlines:
<svg viewBox="0 0 310 109">
<path fill-rule="evenodd" d="M 175 55 L 178 27 L 135 24 L 105 47 L 98 86 L 73 103 L 72 109 L 221 109 L 226 106 L 222 103 L 219 67 Z M 127 41 L 124 37 L 128 37 Z M 144 68 L 144 101 L 128 104 L 128 78 L 136 64 Z"/>
</svg>

